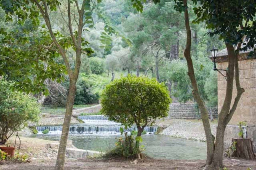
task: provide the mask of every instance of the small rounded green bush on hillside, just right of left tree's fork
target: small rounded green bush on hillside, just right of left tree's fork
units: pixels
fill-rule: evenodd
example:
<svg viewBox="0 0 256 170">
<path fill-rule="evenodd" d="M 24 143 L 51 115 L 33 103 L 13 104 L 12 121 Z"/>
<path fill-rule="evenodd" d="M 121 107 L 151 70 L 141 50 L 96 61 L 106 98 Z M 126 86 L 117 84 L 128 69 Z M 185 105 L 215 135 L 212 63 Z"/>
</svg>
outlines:
<svg viewBox="0 0 256 170">
<path fill-rule="evenodd" d="M 99 57 L 90 58 L 90 70 L 93 74 L 101 74 L 104 71 L 104 59 Z"/>
</svg>

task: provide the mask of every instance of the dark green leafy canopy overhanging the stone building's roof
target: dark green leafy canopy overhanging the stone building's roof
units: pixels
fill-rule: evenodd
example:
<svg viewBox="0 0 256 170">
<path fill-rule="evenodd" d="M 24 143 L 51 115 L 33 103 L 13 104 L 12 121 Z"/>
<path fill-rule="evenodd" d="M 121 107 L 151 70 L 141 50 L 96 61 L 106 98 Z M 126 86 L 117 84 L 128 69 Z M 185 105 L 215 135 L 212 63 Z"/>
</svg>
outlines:
<svg viewBox="0 0 256 170">
<path fill-rule="evenodd" d="M 243 42 L 242 50 L 254 48 L 256 44 L 256 3 L 255 0 L 200 1 L 194 8 L 195 22 L 205 22 L 210 36 L 219 35 L 226 43 Z M 238 29 L 240 28 L 240 29 Z"/>
</svg>

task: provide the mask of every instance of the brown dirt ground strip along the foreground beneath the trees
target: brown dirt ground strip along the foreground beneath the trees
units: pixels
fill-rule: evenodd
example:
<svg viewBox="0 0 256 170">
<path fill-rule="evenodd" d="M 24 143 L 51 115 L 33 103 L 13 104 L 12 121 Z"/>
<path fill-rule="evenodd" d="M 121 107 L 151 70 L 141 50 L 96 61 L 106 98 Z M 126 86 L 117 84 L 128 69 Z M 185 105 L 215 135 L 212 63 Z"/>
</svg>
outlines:
<svg viewBox="0 0 256 170">
<path fill-rule="evenodd" d="M 67 160 L 66 170 L 196 170 L 202 169 L 205 160 L 146 159 L 130 161 L 120 159 Z M 0 165 L 0 170 L 54 170 L 55 160 L 33 160 L 30 163 L 8 163 Z M 256 160 L 224 159 L 228 170 L 256 169 Z"/>
</svg>

